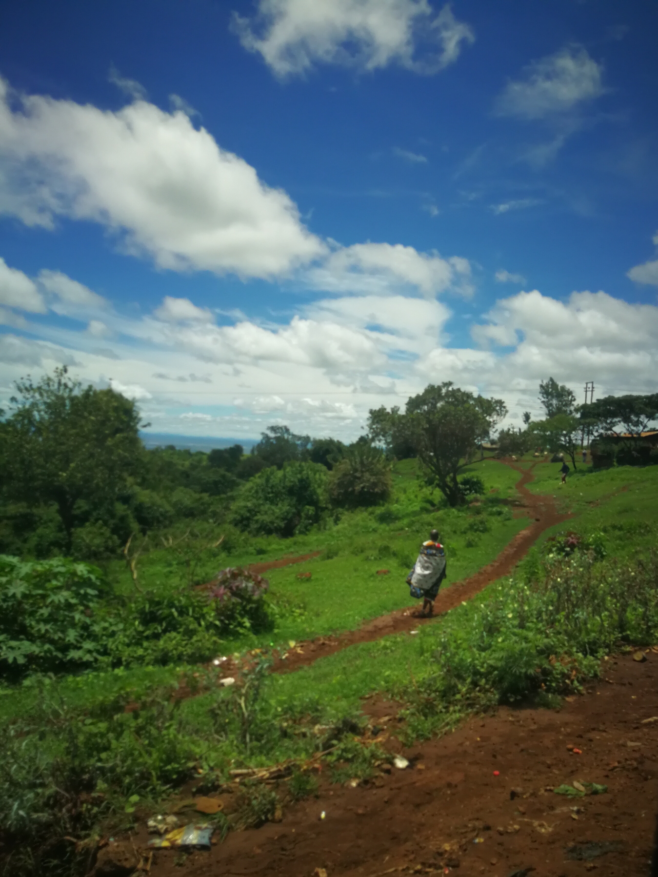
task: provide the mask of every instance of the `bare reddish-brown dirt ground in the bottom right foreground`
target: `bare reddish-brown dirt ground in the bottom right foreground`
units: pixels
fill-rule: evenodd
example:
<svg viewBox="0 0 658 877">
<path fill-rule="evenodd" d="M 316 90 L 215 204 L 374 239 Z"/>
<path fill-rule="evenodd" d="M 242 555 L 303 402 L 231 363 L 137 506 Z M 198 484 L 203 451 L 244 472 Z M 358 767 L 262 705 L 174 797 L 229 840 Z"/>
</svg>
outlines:
<svg viewBox="0 0 658 877">
<path fill-rule="evenodd" d="M 658 717 L 658 649 L 644 663 L 604 662 L 588 688 L 562 709 L 500 708 L 408 750 L 397 720 L 383 717 L 394 705 L 379 703 L 383 745 L 409 768 L 386 767 L 357 788 L 321 774 L 318 797 L 285 809 L 280 824 L 231 833 L 184 861 L 156 852 L 151 877 L 583 877 L 595 868 L 649 877 L 658 718 L 646 720 Z M 579 780 L 608 790 L 554 794 Z M 134 839 L 144 843 L 145 831 Z"/>
</svg>

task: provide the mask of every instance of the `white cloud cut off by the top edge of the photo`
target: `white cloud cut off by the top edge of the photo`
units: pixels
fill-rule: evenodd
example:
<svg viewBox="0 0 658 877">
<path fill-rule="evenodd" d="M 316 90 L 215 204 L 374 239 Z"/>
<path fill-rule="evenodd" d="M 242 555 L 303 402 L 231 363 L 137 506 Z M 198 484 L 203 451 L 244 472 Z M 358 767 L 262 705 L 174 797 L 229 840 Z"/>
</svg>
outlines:
<svg viewBox="0 0 658 877">
<path fill-rule="evenodd" d="M 427 0 L 260 0 L 252 21 L 234 13 L 233 28 L 281 77 L 318 62 L 363 70 L 397 63 L 430 75 L 475 39 L 449 4 L 434 15 Z"/>
</svg>

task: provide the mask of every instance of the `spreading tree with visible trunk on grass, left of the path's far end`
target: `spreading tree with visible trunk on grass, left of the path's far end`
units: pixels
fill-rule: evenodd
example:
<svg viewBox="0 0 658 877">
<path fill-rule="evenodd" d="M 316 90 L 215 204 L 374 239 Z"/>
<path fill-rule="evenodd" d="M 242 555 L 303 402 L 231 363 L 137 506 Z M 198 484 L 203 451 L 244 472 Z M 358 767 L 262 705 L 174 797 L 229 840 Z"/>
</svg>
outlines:
<svg viewBox="0 0 658 877">
<path fill-rule="evenodd" d="M 457 476 L 476 458 L 477 447 L 507 414 L 501 399 L 485 399 L 454 387 L 430 384 L 407 400 L 404 427 L 429 479 L 447 502 L 463 502 Z"/>
</svg>

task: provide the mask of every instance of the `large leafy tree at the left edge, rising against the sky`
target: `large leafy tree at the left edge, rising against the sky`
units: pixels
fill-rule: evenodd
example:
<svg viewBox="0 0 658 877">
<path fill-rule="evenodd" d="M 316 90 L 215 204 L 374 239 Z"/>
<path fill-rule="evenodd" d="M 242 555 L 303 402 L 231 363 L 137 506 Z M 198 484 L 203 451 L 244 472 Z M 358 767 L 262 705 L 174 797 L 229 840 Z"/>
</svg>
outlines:
<svg viewBox="0 0 658 877">
<path fill-rule="evenodd" d="M 54 503 L 70 546 L 76 506 L 111 516 L 138 467 L 139 411 L 113 389 L 83 388 L 66 367 L 16 389 L 0 428 L 0 488 L 10 502 Z"/>
</svg>

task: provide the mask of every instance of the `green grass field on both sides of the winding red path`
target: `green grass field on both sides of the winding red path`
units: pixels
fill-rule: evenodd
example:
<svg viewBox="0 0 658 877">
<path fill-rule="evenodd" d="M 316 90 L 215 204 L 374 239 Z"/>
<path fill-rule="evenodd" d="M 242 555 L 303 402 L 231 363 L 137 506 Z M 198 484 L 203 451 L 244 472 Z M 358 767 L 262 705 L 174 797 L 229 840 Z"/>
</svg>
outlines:
<svg viewBox="0 0 658 877">
<path fill-rule="evenodd" d="M 302 564 L 268 571 L 268 599 L 277 608 L 274 631 L 225 641 L 225 653 L 263 650 L 250 652 L 253 667 L 245 678 L 254 674 L 251 694 L 240 686 L 209 685 L 216 671 L 185 665 L 32 676 L 21 685 L 0 688 L 4 764 L 18 764 L 18 774 L 25 774 L 22 781 L 16 772 L 0 776 L 0 810 L 10 812 L 10 795 L 28 795 L 29 789 L 40 788 L 37 776 L 55 788 L 83 770 L 98 777 L 97 788 L 102 790 L 104 803 L 94 818 L 110 820 L 118 831 L 137 818 L 132 816 L 133 800 L 139 797 L 137 814 L 143 818 L 155 802 L 175 793 L 190 771 L 221 777 L 229 766 L 308 757 L 332 735 L 342 741 L 333 758 L 348 762 L 350 775 L 368 774 L 371 756 L 351 743 L 349 735 L 341 736 L 345 731 L 336 730 L 361 721 L 368 695 L 393 697 L 402 704 L 407 722 L 400 733 L 408 740 L 454 727 L 470 710 L 484 709 L 497 698 L 526 696 L 539 690 L 541 680 L 539 693 L 544 696 L 546 689 L 546 705 L 554 706 L 551 692 L 577 688 L 578 674 L 595 674 L 597 656 L 619 637 L 638 640 L 658 634 L 658 579 L 651 585 L 651 576 L 658 576 L 652 569 L 658 566 L 637 567 L 644 589 L 635 589 L 630 610 L 630 580 L 624 578 L 636 574 L 632 561 L 655 545 L 658 467 L 602 472 L 579 467 L 561 487 L 557 465 L 532 458 L 519 463 L 533 466 L 535 480 L 528 488 L 555 497 L 559 508 L 573 517 L 542 534 L 513 579 L 493 583 L 414 636 L 395 634 L 349 645 L 290 674 L 268 674 L 266 664 L 261 665 L 272 645 L 351 630 L 364 620 L 411 605 L 404 578 L 419 543 L 433 527 L 447 548 L 445 587 L 493 560 L 528 523 L 518 508 L 518 471 L 497 460 L 470 467 L 468 474 L 483 478 L 485 493 L 479 504 L 454 510 L 418 481 L 415 462 L 405 460 L 395 467 L 393 496 L 385 506 L 346 512 L 304 537 L 255 539 L 205 557 L 211 573 L 228 565 L 319 552 Z M 567 586 L 558 584 L 557 577 L 550 593 L 529 588 L 526 582 L 537 579 L 544 568 L 543 543 L 566 531 L 596 538 L 604 545 L 604 560 L 577 560 L 575 565 L 565 559 L 560 575 L 567 576 Z M 614 558 L 628 564 L 626 572 L 615 567 Z M 606 578 L 608 567 L 613 574 Z M 390 573 L 377 575 L 380 569 Z M 311 573 L 311 579 L 298 579 L 302 572 Z M 180 587 L 182 574 L 180 559 L 165 547 L 154 548 L 140 566 L 140 587 Z M 131 593 L 125 567 L 111 567 L 109 577 L 119 593 Z M 576 609 L 569 609 L 569 600 L 581 587 L 582 612 L 577 600 Z M 586 594 L 595 601 L 593 609 L 587 608 Z M 598 608 L 597 595 L 605 595 L 605 609 Z M 554 617 L 554 602 L 559 600 L 566 608 Z M 561 652 L 566 657 L 555 662 L 554 655 Z M 574 652 L 576 674 L 570 671 L 569 655 Z M 194 696 L 176 698 L 181 685 L 191 688 Z M 240 696 L 247 698 L 242 706 Z M 337 778 L 342 776 L 339 768 Z M 54 800 L 54 793 L 49 794 L 48 800 Z M 34 802 L 42 800 L 37 792 L 33 795 Z M 34 802 L 25 808 L 36 807 Z M 55 810 L 49 818 L 55 820 Z M 85 831 L 90 830 L 88 824 Z M 67 824 L 52 831 L 70 834 L 74 828 Z"/>
</svg>

